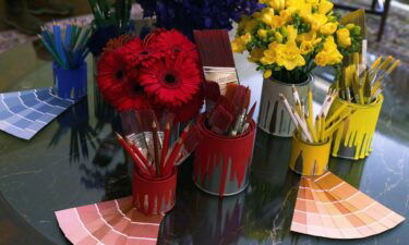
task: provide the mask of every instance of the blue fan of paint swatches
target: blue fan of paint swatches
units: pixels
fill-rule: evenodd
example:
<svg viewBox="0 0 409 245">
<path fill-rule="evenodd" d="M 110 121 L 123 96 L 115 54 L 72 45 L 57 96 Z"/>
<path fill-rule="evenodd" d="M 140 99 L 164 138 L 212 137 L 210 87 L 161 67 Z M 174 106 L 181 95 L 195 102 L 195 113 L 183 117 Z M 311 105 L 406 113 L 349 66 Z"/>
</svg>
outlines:
<svg viewBox="0 0 409 245">
<path fill-rule="evenodd" d="M 76 101 L 62 99 L 55 88 L 0 94 L 0 130 L 31 139 Z"/>
</svg>

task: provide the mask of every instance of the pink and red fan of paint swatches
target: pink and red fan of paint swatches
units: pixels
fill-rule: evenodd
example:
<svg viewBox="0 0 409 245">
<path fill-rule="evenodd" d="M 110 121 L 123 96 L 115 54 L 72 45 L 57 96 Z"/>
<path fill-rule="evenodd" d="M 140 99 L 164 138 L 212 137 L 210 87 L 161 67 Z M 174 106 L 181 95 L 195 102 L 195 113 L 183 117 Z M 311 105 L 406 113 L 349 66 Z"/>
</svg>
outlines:
<svg viewBox="0 0 409 245">
<path fill-rule="evenodd" d="M 145 216 L 132 196 L 56 211 L 58 223 L 73 244 L 155 245 L 164 216 Z"/>
</svg>

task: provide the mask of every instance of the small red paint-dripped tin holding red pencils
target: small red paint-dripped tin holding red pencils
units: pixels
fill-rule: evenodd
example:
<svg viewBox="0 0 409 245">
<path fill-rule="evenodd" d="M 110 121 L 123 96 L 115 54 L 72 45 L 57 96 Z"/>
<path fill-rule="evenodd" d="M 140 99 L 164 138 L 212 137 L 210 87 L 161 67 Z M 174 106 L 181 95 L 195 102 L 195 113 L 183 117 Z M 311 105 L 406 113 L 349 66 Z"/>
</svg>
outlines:
<svg viewBox="0 0 409 245">
<path fill-rule="evenodd" d="M 133 205 L 143 213 L 153 216 L 167 212 L 175 206 L 177 168 L 171 175 L 163 179 L 145 179 L 133 171 Z M 146 199 L 147 198 L 147 203 Z M 155 210 L 155 203 L 157 208 Z"/>
</svg>

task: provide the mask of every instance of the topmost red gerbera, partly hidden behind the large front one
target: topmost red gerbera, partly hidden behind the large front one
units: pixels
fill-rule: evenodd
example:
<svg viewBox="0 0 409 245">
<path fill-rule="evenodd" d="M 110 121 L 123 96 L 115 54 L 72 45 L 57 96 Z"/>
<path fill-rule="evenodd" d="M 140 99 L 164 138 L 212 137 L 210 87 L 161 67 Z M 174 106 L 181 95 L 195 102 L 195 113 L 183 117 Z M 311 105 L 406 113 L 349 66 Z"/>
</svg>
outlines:
<svg viewBox="0 0 409 245">
<path fill-rule="evenodd" d="M 195 60 L 199 58 L 196 46 L 176 29 L 154 33 L 154 37 L 151 38 L 148 44 L 149 47 L 166 52 L 172 58 L 180 52 L 185 52 Z"/>
</svg>

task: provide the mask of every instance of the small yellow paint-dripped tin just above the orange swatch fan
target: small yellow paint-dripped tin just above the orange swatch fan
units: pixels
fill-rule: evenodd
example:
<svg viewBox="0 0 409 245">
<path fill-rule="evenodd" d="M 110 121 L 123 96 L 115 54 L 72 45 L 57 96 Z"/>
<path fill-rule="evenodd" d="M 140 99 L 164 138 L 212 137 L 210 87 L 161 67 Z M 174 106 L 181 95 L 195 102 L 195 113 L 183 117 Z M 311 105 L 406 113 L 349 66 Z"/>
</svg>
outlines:
<svg viewBox="0 0 409 245">
<path fill-rule="evenodd" d="M 306 143 L 299 135 L 292 137 L 290 169 L 302 175 L 321 175 L 328 166 L 330 139 L 326 143 Z"/>
</svg>

